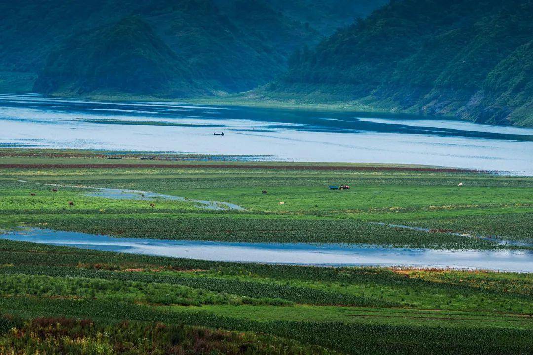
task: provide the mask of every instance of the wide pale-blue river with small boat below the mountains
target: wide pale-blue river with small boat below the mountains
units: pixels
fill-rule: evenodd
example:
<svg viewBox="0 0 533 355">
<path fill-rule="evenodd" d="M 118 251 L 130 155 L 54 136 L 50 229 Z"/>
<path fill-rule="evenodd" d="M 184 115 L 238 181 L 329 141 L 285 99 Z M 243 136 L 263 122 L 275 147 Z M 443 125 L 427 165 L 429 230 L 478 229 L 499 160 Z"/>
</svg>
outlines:
<svg viewBox="0 0 533 355">
<path fill-rule="evenodd" d="M 149 125 L 147 125 L 149 124 Z M 214 136 L 214 132 L 224 136 Z M 409 115 L 0 95 L 0 147 L 430 164 L 533 175 L 533 129 Z"/>
</svg>

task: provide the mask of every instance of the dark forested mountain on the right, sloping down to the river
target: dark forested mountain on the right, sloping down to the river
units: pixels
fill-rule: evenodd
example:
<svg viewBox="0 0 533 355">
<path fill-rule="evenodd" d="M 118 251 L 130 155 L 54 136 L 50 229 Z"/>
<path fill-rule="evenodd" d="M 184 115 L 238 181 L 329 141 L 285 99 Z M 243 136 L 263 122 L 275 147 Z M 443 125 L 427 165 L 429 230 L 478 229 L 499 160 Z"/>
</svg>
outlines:
<svg viewBox="0 0 533 355">
<path fill-rule="evenodd" d="M 271 95 L 533 124 L 533 2 L 393 1 L 290 60 Z"/>
</svg>

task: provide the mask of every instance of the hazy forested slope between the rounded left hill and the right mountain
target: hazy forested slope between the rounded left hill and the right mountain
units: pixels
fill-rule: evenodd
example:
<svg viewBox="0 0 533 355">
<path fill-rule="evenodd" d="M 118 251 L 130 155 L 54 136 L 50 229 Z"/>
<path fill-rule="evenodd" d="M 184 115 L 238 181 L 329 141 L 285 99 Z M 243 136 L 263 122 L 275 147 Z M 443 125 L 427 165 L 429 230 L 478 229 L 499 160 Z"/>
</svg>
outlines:
<svg viewBox="0 0 533 355">
<path fill-rule="evenodd" d="M 290 53 L 320 35 L 275 13 L 262 1 L 240 1 L 227 11 L 211 0 L 145 9 L 147 21 L 175 48 L 195 80 L 215 92 L 239 92 L 272 80 Z"/>
</svg>

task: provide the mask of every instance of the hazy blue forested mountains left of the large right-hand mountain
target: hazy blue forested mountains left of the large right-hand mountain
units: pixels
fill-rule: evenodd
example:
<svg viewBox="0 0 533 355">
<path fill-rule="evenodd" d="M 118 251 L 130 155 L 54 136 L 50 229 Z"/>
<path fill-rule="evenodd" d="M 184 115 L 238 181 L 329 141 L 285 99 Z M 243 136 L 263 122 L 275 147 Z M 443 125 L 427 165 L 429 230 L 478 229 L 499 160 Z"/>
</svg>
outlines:
<svg viewBox="0 0 533 355">
<path fill-rule="evenodd" d="M 383 2 L 344 0 L 343 7 L 333 0 L 1 2 L 0 89 L 30 90 L 38 76 L 34 89 L 47 94 L 248 90 L 285 72 L 296 49 L 313 47 Z M 111 50 L 105 52 L 106 46 Z M 133 58 L 124 61 L 128 55 Z M 14 78 L 11 86 L 1 85 L 5 76 Z"/>
</svg>

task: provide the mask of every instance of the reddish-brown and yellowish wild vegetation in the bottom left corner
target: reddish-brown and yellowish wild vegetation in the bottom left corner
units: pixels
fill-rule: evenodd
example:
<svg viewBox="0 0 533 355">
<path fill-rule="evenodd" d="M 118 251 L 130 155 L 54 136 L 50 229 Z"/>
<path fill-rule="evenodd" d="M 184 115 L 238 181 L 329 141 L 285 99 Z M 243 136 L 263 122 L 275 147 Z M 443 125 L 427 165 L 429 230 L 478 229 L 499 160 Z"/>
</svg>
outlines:
<svg viewBox="0 0 533 355">
<path fill-rule="evenodd" d="M 0 328 L 0 351 L 17 354 L 335 354 L 249 332 L 139 321 L 7 315 L 0 318 L 0 327 L 7 329 Z"/>
</svg>

